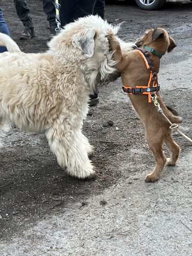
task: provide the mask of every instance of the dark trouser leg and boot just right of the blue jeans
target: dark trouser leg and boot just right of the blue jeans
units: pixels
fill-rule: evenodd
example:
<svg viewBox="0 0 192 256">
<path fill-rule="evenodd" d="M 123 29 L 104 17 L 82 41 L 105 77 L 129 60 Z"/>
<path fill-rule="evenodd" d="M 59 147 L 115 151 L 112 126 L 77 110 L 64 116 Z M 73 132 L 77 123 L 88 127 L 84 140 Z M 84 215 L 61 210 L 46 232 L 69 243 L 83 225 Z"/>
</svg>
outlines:
<svg viewBox="0 0 192 256">
<path fill-rule="evenodd" d="M 29 7 L 26 0 L 14 0 L 14 4 L 17 15 L 25 27 L 24 32 L 20 35 L 20 39 L 35 37 L 34 24 L 32 18 L 29 16 Z"/>
</svg>

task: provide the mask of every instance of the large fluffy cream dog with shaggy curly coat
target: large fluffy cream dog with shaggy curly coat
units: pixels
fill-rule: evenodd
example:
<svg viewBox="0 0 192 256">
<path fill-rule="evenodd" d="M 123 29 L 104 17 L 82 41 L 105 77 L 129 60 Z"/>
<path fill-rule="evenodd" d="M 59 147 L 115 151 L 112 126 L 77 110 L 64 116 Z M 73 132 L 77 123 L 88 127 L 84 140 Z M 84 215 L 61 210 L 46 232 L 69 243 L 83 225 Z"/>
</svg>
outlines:
<svg viewBox="0 0 192 256">
<path fill-rule="evenodd" d="M 117 78 L 109 49 L 113 27 L 97 16 L 80 18 L 65 26 L 45 53 L 25 54 L 0 33 L 0 134 L 14 123 L 24 131 L 44 131 L 61 167 L 72 176 L 90 178 L 95 171 L 82 134 L 89 94 L 96 84 Z M 124 44 L 124 49 L 132 49 Z"/>
</svg>

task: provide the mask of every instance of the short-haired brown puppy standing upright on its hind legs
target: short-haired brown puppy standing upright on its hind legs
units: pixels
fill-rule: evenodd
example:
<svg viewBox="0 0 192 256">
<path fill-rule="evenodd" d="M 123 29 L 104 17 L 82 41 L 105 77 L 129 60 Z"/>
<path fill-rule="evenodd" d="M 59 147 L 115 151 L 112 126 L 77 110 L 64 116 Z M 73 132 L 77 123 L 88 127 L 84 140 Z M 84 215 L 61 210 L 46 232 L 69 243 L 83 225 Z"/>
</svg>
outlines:
<svg viewBox="0 0 192 256">
<path fill-rule="evenodd" d="M 150 70 L 146 68 L 145 62 L 137 51 L 131 51 L 127 55 L 122 55 L 120 49 L 120 43 L 113 33 L 109 33 L 108 41 L 112 50 L 114 50 L 114 59 L 119 61 L 116 65 L 117 70 L 121 73 L 121 79 L 124 86 L 130 86 L 135 88 L 136 85 L 147 86 Z M 150 47 L 156 50 L 161 55 L 166 52 L 170 52 L 176 47 L 176 43 L 173 38 L 168 35 L 168 32 L 162 28 L 150 29 L 146 31 L 143 37 L 139 38 L 136 42 L 138 47 L 144 48 L 144 46 Z M 153 62 L 156 73 L 159 72 L 159 57 L 149 51 L 149 58 Z M 128 94 L 132 102 L 132 105 L 138 113 L 141 121 L 144 124 L 146 140 L 151 148 L 153 155 L 156 159 L 155 169 L 147 174 L 145 182 L 156 182 L 165 167 L 167 162 L 168 165 L 175 165 L 180 154 L 180 147 L 174 142 L 171 136 L 171 130 L 169 129 L 170 124 L 160 113 L 157 112 L 156 107 L 153 103 L 148 102 L 148 96 L 144 94 Z M 172 123 L 182 122 L 182 118 L 174 115 L 169 111 L 159 93 L 158 102 L 161 109 Z M 162 144 L 166 143 L 171 151 L 171 157 L 166 158 Z"/>
</svg>

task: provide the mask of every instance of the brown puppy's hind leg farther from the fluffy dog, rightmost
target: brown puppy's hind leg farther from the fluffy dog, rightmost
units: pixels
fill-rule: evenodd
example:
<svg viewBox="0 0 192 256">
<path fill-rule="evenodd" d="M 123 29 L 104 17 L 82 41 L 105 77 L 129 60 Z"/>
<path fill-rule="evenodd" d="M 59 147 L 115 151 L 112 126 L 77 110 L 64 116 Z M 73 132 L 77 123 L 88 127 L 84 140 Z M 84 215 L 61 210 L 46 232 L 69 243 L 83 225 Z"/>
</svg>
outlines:
<svg viewBox="0 0 192 256">
<path fill-rule="evenodd" d="M 175 165 L 180 156 L 180 146 L 173 140 L 171 134 L 165 137 L 165 143 L 171 151 L 171 157 L 167 158 L 167 165 Z"/>
</svg>

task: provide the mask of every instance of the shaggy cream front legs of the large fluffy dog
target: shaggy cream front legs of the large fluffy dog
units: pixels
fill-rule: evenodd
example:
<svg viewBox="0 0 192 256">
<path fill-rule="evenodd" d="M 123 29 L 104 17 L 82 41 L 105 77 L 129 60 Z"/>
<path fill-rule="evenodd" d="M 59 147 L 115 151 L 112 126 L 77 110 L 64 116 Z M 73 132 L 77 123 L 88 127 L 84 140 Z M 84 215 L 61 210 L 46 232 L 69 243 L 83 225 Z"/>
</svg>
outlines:
<svg viewBox="0 0 192 256">
<path fill-rule="evenodd" d="M 61 129 L 50 128 L 46 133 L 49 146 L 57 156 L 61 167 L 67 167 L 67 172 L 79 179 L 93 178 L 94 167 L 88 158 L 91 152 L 87 138 L 81 131 L 70 131 L 60 134 Z"/>
</svg>

